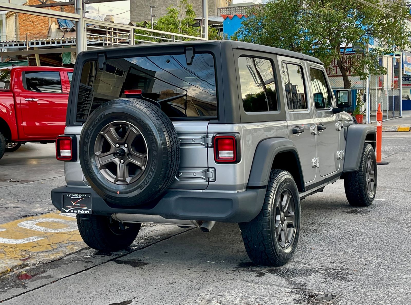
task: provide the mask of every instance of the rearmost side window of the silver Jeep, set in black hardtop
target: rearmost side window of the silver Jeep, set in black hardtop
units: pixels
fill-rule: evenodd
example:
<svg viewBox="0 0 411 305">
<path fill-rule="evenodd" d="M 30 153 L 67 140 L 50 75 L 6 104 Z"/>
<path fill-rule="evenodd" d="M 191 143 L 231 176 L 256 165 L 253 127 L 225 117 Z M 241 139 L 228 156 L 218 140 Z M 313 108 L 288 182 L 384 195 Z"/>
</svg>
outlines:
<svg viewBox="0 0 411 305">
<path fill-rule="evenodd" d="M 239 57 L 238 70 L 244 110 L 277 111 L 277 93 L 270 60 Z"/>
</svg>

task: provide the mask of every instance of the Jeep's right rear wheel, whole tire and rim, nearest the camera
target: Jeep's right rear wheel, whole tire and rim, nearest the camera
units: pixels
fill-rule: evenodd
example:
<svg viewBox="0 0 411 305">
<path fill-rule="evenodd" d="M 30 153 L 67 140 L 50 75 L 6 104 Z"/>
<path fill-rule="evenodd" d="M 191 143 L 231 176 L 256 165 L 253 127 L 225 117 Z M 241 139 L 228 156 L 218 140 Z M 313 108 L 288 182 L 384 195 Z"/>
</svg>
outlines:
<svg viewBox="0 0 411 305">
<path fill-rule="evenodd" d="M 272 170 L 263 208 L 239 224 L 245 250 L 255 264 L 282 266 L 293 256 L 300 235 L 300 197 L 293 176 Z"/>
</svg>

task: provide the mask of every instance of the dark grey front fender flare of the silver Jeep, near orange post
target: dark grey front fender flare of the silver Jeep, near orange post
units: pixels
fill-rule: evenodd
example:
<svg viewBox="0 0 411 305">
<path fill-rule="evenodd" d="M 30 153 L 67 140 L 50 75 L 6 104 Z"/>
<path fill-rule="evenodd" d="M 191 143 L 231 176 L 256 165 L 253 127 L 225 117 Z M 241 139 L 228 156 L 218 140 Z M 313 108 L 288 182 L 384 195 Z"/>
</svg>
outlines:
<svg viewBox="0 0 411 305">
<path fill-rule="evenodd" d="M 345 156 L 343 172 L 356 172 L 360 168 L 361 154 L 363 153 L 365 138 L 374 134 L 375 127 L 362 124 L 353 124 L 344 130 Z"/>
</svg>

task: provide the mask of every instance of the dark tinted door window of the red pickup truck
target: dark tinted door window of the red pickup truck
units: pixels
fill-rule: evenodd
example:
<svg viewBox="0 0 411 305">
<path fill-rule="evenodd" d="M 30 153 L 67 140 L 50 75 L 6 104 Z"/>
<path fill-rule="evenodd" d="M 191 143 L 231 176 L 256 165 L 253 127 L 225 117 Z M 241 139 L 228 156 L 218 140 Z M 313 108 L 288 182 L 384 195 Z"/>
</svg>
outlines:
<svg viewBox="0 0 411 305">
<path fill-rule="evenodd" d="M 53 71 L 28 71 L 24 72 L 26 90 L 45 92 L 45 93 L 62 93 L 60 72 Z"/>
</svg>

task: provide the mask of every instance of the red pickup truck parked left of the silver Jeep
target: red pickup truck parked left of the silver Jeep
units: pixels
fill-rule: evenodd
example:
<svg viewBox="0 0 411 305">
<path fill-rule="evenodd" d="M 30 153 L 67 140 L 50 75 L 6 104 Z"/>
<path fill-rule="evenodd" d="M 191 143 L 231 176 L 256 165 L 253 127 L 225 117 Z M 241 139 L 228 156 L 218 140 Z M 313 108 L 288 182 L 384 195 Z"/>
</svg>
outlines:
<svg viewBox="0 0 411 305">
<path fill-rule="evenodd" d="M 0 158 L 26 142 L 54 142 L 64 133 L 73 69 L 0 69 Z"/>
</svg>

